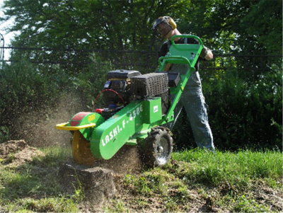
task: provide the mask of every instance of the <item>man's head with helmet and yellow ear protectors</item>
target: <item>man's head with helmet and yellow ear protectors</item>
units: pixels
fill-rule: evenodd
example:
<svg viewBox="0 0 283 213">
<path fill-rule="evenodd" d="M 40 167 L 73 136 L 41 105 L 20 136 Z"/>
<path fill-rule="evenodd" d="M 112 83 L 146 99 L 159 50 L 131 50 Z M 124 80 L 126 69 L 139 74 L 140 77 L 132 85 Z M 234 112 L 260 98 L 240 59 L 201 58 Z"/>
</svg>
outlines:
<svg viewBox="0 0 283 213">
<path fill-rule="evenodd" d="M 157 28 L 163 38 L 170 38 L 171 31 L 175 30 L 176 27 L 177 25 L 173 18 L 170 16 L 161 16 L 154 21 L 151 30 Z"/>
</svg>

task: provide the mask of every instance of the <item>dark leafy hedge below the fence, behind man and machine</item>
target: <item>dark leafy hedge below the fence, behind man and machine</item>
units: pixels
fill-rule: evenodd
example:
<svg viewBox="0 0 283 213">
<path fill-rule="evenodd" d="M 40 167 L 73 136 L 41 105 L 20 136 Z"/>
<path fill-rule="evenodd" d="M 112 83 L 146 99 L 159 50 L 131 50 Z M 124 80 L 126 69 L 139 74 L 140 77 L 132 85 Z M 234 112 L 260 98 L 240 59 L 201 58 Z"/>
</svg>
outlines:
<svg viewBox="0 0 283 213">
<path fill-rule="evenodd" d="M 91 108 L 112 65 L 95 54 L 90 58 L 88 69 L 76 75 L 57 65 L 40 67 L 25 60 L 6 65 L 0 71 L 1 140 L 13 135 L 18 115 L 52 108 L 64 93 L 80 97 L 83 105 Z M 239 78 L 236 69 L 226 71 L 223 80 L 203 82 L 218 149 L 283 148 L 282 76 L 282 67 L 274 65 L 270 73 L 258 75 L 253 84 Z M 178 118 L 173 134 L 178 149 L 196 146 L 185 112 Z"/>
</svg>

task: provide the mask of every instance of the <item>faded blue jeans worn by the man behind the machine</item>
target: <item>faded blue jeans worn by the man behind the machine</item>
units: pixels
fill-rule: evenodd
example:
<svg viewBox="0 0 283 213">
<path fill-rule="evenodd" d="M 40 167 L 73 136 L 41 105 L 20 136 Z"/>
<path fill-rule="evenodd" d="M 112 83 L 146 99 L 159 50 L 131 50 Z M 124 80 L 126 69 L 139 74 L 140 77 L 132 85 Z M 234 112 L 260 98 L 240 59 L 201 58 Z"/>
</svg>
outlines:
<svg viewBox="0 0 283 213">
<path fill-rule="evenodd" d="M 170 125 L 172 129 L 182 108 L 185 108 L 190 120 L 192 132 L 197 146 L 214 151 L 212 130 L 207 117 L 207 104 L 202 93 L 202 83 L 198 71 L 193 71 L 184 88 L 178 105 L 174 110 L 175 120 Z"/>
</svg>

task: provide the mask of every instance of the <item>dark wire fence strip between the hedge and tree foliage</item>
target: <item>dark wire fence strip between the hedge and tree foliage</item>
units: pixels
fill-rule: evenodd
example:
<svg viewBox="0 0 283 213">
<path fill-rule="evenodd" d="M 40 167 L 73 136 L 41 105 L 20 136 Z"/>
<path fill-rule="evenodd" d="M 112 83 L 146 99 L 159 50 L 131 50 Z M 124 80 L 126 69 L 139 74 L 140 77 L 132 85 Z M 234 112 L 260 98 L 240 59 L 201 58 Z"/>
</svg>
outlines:
<svg viewBox="0 0 283 213">
<path fill-rule="evenodd" d="M 155 48 L 156 49 L 156 48 Z M 97 54 L 103 62 L 111 62 L 115 69 L 135 69 L 145 73 L 152 72 L 158 66 L 157 50 L 87 50 L 87 49 L 51 49 L 36 47 L 0 47 L 4 64 L 21 62 L 26 59 L 35 64 L 59 64 L 66 69 L 81 71 L 91 64 L 90 54 Z M 4 57 L 8 54 L 8 58 Z M 222 79 L 227 69 L 237 69 L 243 78 L 255 79 L 270 71 L 272 64 L 282 64 L 283 55 L 265 54 L 214 54 L 211 61 L 201 62 L 200 70 L 204 80 Z"/>
</svg>

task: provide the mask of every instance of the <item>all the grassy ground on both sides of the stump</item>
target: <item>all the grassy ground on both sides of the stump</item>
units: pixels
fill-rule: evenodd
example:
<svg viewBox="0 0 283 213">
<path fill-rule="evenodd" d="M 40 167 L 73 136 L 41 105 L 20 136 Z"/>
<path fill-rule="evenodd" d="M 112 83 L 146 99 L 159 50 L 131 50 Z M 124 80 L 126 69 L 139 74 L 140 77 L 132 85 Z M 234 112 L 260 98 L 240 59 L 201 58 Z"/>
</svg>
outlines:
<svg viewBox="0 0 283 213">
<path fill-rule="evenodd" d="M 57 171 L 69 149 L 42 149 L 44 157 L 17 168 L 0 161 L 0 212 L 79 212 L 80 189 L 64 195 Z M 13 161 L 13 154 L 11 154 Z M 281 151 L 212 153 L 192 149 L 173 153 L 162 168 L 121 175 L 105 212 L 282 212 Z M 267 194 L 266 194 L 266 193 Z M 265 193 L 265 194 L 264 194 Z"/>
</svg>

